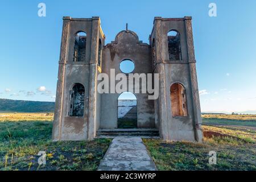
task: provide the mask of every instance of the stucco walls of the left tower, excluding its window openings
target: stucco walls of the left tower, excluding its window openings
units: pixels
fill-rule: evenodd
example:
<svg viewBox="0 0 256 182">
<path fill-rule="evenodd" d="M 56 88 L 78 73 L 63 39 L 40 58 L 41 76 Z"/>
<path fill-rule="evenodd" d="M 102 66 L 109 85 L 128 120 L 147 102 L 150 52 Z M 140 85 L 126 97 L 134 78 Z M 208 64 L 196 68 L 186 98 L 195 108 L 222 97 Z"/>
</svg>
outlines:
<svg viewBox="0 0 256 182">
<path fill-rule="evenodd" d="M 86 33 L 86 59 L 74 62 L 75 36 L 80 31 Z M 95 107 L 97 105 L 100 109 L 101 98 L 96 95 L 96 89 L 92 87 L 96 80 L 91 79 L 96 72 L 98 39 L 102 39 L 103 45 L 105 42 L 104 35 L 100 34 L 99 36 L 99 34 L 100 19 L 98 17 L 77 19 L 67 16 L 63 18 L 55 118 L 52 130 L 53 140 L 91 139 L 94 137 L 94 130 L 100 125 L 100 119 L 98 119 L 100 118 L 100 110 L 95 111 Z M 68 114 L 70 90 L 76 83 L 82 84 L 85 88 L 83 117 L 69 117 Z M 91 119 L 92 116 L 93 120 Z M 90 125 L 92 122 L 93 125 Z"/>
</svg>

